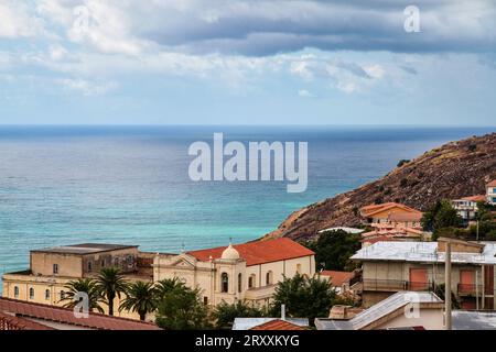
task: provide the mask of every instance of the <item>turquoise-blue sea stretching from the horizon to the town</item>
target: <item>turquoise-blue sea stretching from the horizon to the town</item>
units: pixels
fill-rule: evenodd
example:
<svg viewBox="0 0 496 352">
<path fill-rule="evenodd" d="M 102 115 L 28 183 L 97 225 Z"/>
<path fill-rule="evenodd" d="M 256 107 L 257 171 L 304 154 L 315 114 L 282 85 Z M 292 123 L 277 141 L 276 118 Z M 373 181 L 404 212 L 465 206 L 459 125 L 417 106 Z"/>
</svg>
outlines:
<svg viewBox="0 0 496 352">
<path fill-rule="evenodd" d="M 387 174 L 486 128 L 2 127 L 0 272 L 29 251 L 78 242 L 176 252 L 256 239 L 290 212 Z M 187 147 L 226 140 L 309 142 L 309 188 L 285 183 L 193 183 Z"/>
</svg>

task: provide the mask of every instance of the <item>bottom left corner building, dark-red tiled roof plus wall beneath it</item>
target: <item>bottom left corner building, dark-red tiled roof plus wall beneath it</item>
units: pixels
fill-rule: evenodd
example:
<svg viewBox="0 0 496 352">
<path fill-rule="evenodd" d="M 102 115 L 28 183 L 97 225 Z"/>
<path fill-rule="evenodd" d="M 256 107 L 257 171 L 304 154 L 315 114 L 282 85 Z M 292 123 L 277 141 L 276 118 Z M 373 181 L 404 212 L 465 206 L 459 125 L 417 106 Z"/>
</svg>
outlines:
<svg viewBox="0 0 496 352">
<path fill-rule="evenodd" d="M 161 330 L 153 323 L 0 297 L 0 330 Z"/>
</svg>

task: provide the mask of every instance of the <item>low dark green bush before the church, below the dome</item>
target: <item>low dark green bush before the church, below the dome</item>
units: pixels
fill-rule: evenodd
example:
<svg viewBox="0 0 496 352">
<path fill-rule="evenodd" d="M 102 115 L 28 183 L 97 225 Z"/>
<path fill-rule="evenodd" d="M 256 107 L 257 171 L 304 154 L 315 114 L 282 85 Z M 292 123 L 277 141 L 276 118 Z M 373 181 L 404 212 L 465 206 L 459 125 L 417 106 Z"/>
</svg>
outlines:
<svg viewBox="0 0 496 352">
<path fill-rule="evenodd" d="M 257 318 L 265 316 L 266 311 L 263 309 L 259 309 L 242 300 L 238 300 L 235 304 L 222 301 L 215 307 L 213 312 L 217 329 L 230 329 L 235 318 Z"/>
</svg>

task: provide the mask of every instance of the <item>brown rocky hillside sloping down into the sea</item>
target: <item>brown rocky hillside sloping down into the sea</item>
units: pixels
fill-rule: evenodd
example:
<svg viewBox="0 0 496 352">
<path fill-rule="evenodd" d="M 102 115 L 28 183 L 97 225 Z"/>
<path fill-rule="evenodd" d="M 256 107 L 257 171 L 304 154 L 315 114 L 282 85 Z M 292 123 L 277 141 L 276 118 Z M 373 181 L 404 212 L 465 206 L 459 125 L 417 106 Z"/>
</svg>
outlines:
<svg viewBox="0 0 496 352">
<path fill-rule="evenodd" d="M 439 199 L 484 194 L 486 183 L 495 178 L 496 133 L 451 142 L 376 182 L 293 212 L 263 239 L 309 239 L 330 227 L 353 227 L 360 222 L 358 209 L 374 202 L 425 210 Z"/>
</svg>

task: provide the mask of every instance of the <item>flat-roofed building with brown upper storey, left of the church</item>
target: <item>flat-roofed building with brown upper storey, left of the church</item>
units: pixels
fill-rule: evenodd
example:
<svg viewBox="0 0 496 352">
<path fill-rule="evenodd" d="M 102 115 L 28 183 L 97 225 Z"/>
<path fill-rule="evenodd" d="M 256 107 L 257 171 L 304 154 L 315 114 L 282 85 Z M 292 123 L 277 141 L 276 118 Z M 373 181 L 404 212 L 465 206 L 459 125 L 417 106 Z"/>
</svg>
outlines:
<svg viewBox="0 0 496 352">
<path fill-rule="evenodd" d="M 154 254 L 138 251 L 137 245 L 84 243 L 33 250 L 30 268 L 7 273 L 2 277 L 3 297 L 51 306 L 63 306 L 64 286 L 71 280 L 95 277 L 104 267 L 120 268 L 130 282 L 153 279 Z M 116 297 L 118 307 L 120 299 Z M 105 311 L 108 307 L 101 304 Z M 138 319 L 138 315 L 115 309 L 119 317 Z"/>
</svg>

